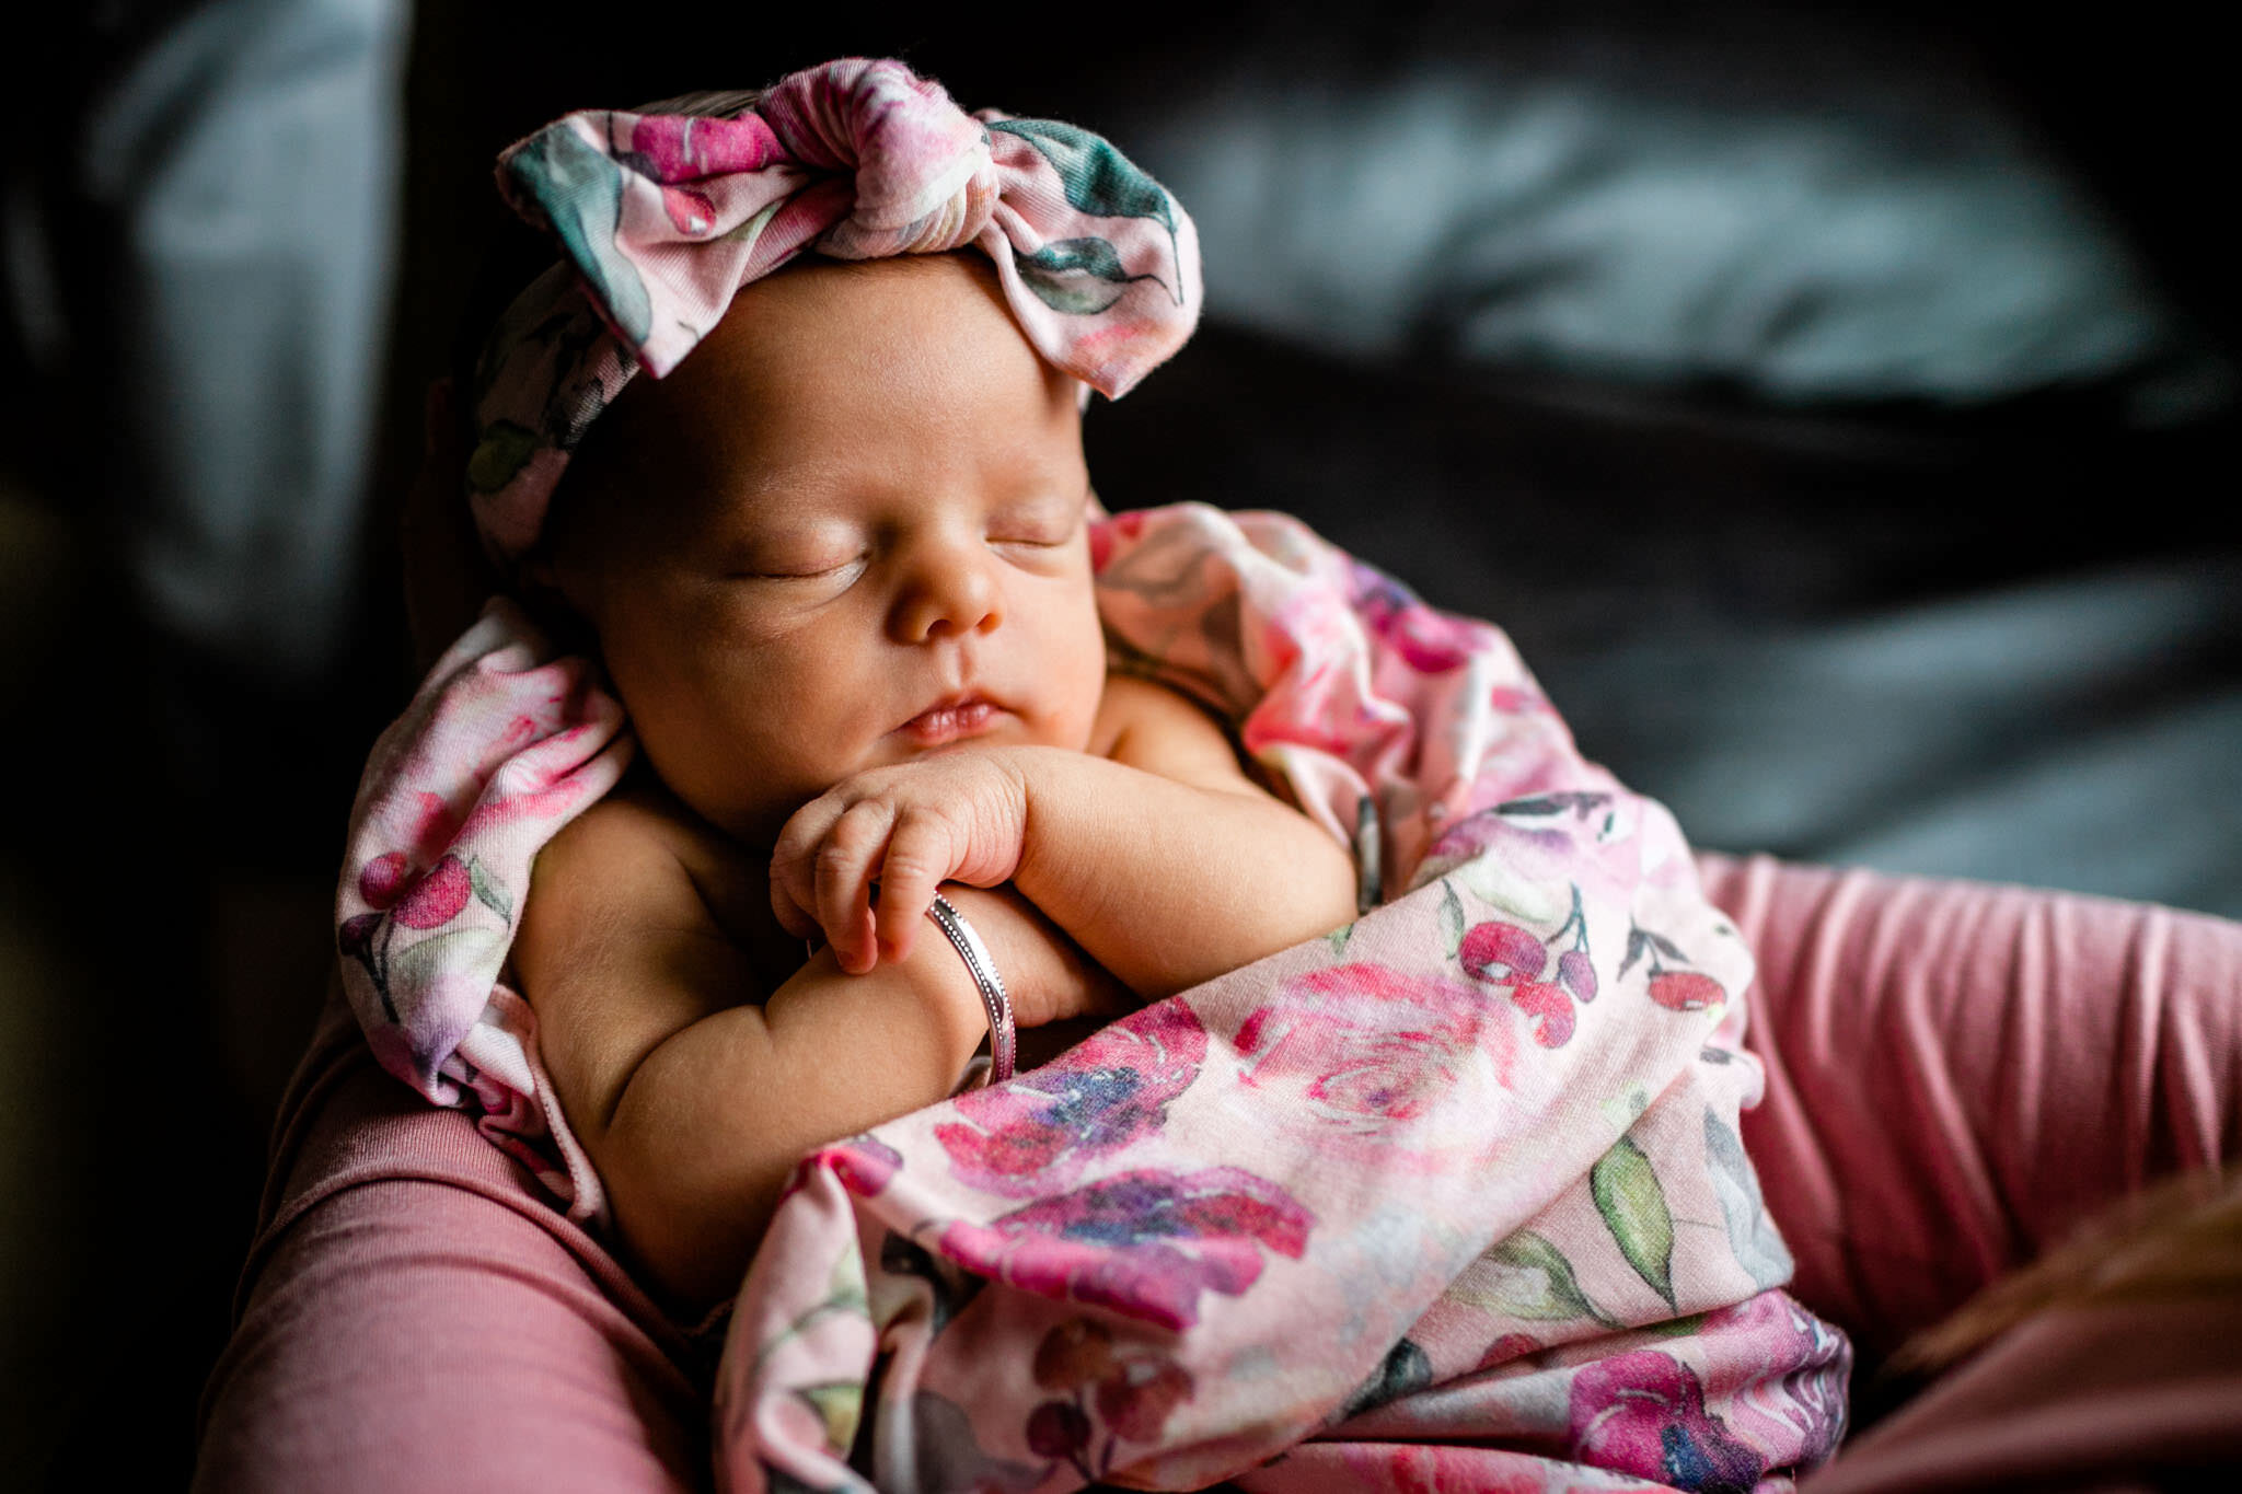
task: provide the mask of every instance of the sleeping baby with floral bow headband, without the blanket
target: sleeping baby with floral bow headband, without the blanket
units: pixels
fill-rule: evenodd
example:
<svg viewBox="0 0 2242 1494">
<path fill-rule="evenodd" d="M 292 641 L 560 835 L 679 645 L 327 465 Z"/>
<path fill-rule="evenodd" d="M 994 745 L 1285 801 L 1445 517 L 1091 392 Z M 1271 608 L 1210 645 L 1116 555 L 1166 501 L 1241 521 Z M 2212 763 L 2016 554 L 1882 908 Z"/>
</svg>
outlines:
<svg viewBox="0 0 2242 1494">
<path fill-rule="evenodd" d="M 805 1151 L 953 1091 L 1004 1024 L 991 965 L 1020 1026 L 1110 1015 L 1356 891 L 1213 717 L 1108 674 L 1081 410 L 1188 334 L 1182 211 L 1101 139 L 973 121 L 895 63 L 695 108 L 509 152 L 574 264 L 502 320 L 471 464 L 484 540 L 639 746 L 538 853 L 511 961 L 677 1308 L 738 1288 Z M 778 139 L 854 159 L 854 204 Z M 724 260 L 686 311 L 679 244 Z M 554 309 L 581 293 L 596 325 Z"/>
</svg>

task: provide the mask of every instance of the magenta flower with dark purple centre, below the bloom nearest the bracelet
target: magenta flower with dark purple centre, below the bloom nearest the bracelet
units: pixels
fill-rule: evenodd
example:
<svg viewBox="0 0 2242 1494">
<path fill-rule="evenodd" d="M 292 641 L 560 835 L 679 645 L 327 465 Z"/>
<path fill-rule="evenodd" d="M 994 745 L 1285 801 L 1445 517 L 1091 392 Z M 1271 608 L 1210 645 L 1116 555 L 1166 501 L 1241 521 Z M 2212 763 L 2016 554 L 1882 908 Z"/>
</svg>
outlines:
<svg viewBox="0 0 2242 1494">
<path fill-rule="evenodd" d="M 1244 1295 L 1260 1279 L 1262 1250 L 1300 1259 L 1312 1227 L 1291 1194 L 1251 1171 L 1146 1167 L 986 1225 L 953 1223 L 939 1250 L 1027 1292 L 1188 1328 L 1204 1292 Z"/>
</svg>

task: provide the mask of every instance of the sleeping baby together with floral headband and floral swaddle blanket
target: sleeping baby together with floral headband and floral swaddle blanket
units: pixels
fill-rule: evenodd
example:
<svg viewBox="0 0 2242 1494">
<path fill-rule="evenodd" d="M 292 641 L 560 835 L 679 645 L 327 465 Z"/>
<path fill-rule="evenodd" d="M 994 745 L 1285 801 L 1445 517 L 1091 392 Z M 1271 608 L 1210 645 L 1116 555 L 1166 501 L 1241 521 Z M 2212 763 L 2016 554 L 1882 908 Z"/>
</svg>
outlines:
<svg viewBox="0 0 2242 1494">
<path fill-rule="evenodd" d="M 1673 818 L 1298 522 L 1094 522 L 1087 392 L 1197 316 L 1157 184 L 865 60 L 500 181 L 565 251 L 473 392 L 520 605 L 374 748 L 343 986 L 673 1313 L 735 1299 L 731 1487 L 1827 1456 Z"/>
</svg>

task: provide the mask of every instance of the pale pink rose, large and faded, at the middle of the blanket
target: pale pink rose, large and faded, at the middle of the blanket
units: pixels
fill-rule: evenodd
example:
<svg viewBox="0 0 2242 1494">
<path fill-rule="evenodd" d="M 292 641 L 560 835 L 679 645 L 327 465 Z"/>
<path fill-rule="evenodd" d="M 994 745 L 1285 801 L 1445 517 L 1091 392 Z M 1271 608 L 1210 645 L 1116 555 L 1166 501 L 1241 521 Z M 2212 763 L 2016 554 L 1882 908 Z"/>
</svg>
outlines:
<svg viewBox="0 0 2242 1494">
<path fill-rule="evenodd" d="M 1469 986 L 1368 961 L 1330 965 L 1287 981 L 1244 1019 L 1238 1077 L 1249 1089 L 1298 1084 L 1312 1115 L 1368 1136 L 1415 1120 L 1453 1086 L 1482 1028 Z M 1509 1064 L 1498 1071 L 1507 1082 Z"/>
</svg>

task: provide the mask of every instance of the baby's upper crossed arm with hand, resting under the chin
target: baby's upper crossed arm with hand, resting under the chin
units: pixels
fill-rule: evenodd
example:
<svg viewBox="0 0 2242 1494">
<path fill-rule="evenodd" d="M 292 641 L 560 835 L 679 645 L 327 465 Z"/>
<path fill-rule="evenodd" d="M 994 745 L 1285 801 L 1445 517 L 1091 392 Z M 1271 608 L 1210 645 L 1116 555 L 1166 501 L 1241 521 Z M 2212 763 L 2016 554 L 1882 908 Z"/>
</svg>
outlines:
<svg viewBox="0 0 2242 1494">
<path fill-rule="evenodd" d="M 773 856 L 780 921 L 823 925 L 843 968 L 872 970 L 917 952 L 917 923 L 944 878 L 1009 880 L 1155 999 L 1354 916 L 1347 851 L 1253 784 L 1197 706 L 1114 679 L 1103 715 L 1103 755 L 960 748 L 812 802 Z"/>
</svg>

